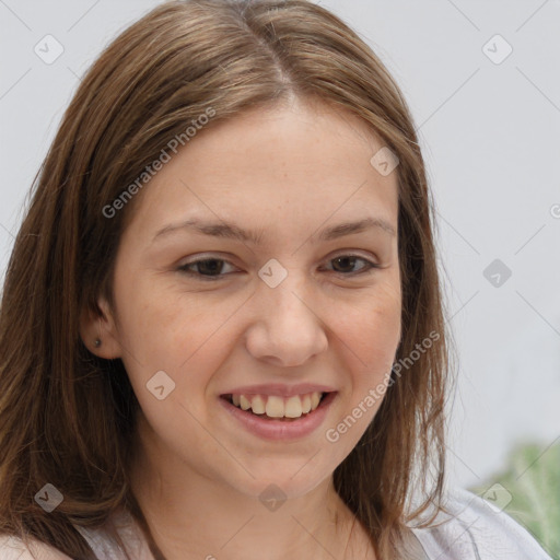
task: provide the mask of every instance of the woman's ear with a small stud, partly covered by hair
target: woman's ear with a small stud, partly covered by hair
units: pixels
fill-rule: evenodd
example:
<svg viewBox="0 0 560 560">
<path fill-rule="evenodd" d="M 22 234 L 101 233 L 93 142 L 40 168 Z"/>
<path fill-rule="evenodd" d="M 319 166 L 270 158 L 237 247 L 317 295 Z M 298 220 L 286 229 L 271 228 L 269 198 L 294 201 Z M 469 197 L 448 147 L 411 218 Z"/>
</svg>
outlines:
<svg viewBox="0 0 560 560">
<path fill-rule="evenodd" d="M 113 360 L 121 357 L 119 337 L 115 324 L 115 317 L 107 301 L 100 298 L 98 312 L 84 307 L 80 314 L 80 336 L 83 343 L 95 355 Z M 101 340 L 96 346 L 95 340 Z"/>
</svg>

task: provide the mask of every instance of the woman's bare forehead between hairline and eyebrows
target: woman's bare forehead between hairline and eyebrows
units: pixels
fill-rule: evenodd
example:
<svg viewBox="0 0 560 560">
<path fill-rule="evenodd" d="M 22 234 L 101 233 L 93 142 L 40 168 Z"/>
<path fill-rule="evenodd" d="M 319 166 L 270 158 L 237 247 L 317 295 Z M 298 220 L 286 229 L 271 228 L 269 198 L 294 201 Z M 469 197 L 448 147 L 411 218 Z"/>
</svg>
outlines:
<svg viewBox="0 0 560 560">
<path fill-rule="evenodd" d="M 252 109 L 200 130 L 173 155 L 144 187 L 132 226 L 153 234 L 192 211 L 292 232 L 357 212 L 396 226 L 397 173 L 371 164 L 383 145 L 361 119 L 327 105 Z"/>
</svg>

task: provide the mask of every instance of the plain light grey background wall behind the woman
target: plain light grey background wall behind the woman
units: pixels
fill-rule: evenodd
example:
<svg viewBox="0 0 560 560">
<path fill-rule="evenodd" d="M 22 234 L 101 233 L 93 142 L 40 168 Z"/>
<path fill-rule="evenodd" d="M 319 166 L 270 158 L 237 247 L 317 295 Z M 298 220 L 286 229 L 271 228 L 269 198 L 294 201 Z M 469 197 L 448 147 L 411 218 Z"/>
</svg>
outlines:
<svg viewBox="0 0 560 560">
<path fill-rule="evenodd" d="M 2 278 L 80 75 L 158 3 L 0 0 Z M 319 3 L 373 47 L 419 129 L 459 358 L 450 481 L 486 482 L 516 443 L 546 453 L 560 438 L 560 1 Z M 34 52 L 47 34 L 65 49 L 51 65 Z M 497 34 L 513 48 L 500 63 Z M 512 272 L 499 287 L 483 275 L 494 259 Z"/>
</svg>

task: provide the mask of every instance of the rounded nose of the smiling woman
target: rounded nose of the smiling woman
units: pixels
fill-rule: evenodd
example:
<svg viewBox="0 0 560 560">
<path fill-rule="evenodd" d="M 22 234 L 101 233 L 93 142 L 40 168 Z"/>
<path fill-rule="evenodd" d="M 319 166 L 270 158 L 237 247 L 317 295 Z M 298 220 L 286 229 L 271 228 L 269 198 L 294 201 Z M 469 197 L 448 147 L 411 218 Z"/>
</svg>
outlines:
<svg viewBox="0 0 560 560">
<path fill-rule="evenodd" d="M 276 288 L 259 287 L 262 293 L 253 302 L 255 320 L 246 332 L 246 348 L 255 359 L 296 366 L 327 349 L 324 310 L 316 299 L 298 294 L 294 287 L 288 281 Z"/>
</svg>

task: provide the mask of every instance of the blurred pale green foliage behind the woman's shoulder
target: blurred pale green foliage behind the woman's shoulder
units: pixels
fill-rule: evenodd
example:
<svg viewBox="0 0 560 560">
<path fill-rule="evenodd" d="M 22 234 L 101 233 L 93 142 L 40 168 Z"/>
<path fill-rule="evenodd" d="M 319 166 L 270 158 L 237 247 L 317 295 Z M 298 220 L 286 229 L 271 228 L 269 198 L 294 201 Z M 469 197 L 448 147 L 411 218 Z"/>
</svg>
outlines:
<svg viewBox="0 0 560 560">
<path fill-rule="evenodd" d="M 502 485 L 511 493 L 503 511 L 560 560 L 560 443 L 548 448 L 520 445 L 508 464 L 506 471 L 469 490 L 482 495 L 492 485 Z"/>
</svg>

